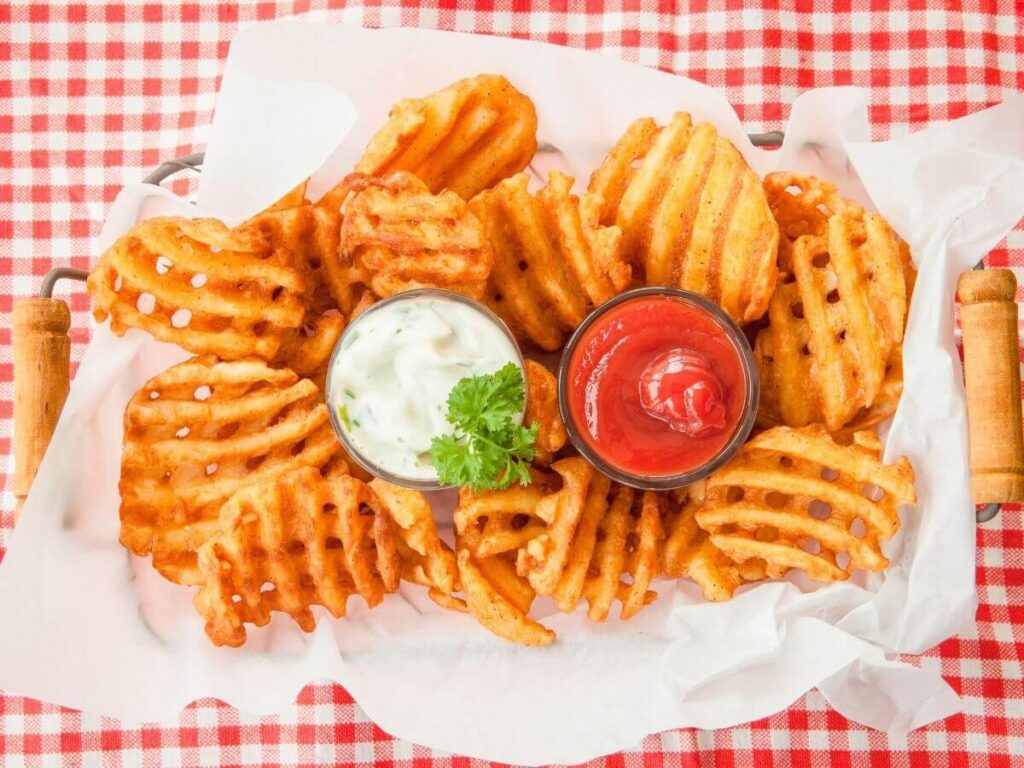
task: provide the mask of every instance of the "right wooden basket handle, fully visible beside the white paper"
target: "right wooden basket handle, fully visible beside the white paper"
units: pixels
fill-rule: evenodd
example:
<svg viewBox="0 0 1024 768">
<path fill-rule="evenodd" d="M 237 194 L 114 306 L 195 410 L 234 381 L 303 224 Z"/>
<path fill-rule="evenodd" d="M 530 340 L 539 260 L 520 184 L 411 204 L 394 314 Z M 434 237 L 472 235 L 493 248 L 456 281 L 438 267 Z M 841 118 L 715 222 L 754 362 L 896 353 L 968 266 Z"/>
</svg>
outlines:
<svg viewBox="0 0 1024 768">
<path fill-rule="evenodd" d="M 1009 269 L 964 272 L 956 286 L 964 330 L 971 447 L 971 496 L 976 504 L 1024 501 L 1017 279 Z"/>
</svg>

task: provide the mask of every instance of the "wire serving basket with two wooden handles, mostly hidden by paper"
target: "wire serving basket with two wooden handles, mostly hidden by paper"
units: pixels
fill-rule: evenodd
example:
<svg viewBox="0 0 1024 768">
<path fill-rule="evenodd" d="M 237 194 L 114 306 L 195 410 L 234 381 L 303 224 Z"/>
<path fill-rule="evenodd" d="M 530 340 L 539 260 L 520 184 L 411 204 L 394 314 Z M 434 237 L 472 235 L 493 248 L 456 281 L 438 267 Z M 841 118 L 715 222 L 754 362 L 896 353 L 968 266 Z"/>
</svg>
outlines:
<svg viewBox="0 0 1024 768">
<path fill-rule="evenodd" d="M 780 131 L 750 135 L 756 146 L 781 144 Z M 540 151 L 554 147 L 539 147 Z M 168 160 L 144 183 L 160 185 L 181 172 L 202 172 L 204 153 Z M 13 312 L 15 520 L 46 453 L 71 385 L 71 312 L 53 297 L 60 281 L 84 283 L 88 271 L 57 267 L 39 295 L 22 299 Z M 1024 433 L 1021 422 L 1016 278 L 979 262 L 961 275 L 972 496 L 979 523 L 1001 504 L 1024 501 Z"/>
</svg>

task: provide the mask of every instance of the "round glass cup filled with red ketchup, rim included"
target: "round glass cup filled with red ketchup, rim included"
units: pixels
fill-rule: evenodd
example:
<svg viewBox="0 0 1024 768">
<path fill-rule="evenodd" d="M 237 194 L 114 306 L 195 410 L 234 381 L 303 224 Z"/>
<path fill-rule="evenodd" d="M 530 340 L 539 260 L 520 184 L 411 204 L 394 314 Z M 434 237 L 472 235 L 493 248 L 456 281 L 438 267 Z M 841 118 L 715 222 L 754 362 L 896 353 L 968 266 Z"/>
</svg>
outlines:
<svg viewBox="0 0 1024 768">
<path fill-rule="evenodd" d="M 760 383 L 742 331 L 689 291 L 639 288 L 595 309 L 565 346 L 558 402 L 577 450 L 640 488 L 721 467 L 754 426 Z"/>
</svg>

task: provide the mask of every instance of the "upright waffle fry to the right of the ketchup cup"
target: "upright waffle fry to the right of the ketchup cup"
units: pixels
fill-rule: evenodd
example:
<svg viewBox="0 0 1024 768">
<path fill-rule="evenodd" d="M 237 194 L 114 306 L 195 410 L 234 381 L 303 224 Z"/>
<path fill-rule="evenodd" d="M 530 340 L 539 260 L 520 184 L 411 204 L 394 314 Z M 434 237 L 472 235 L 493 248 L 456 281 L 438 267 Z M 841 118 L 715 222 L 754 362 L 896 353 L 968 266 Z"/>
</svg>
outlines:
<svg viewBox="0 0 1024 768">
<path fill-rule="evenodd" d="M 838 432 L 863 423 L 858 416 L 884 388 L 881 404 L 888 407 L 893 388 L 902 386 L 898 355 L 912 266 L 886 221 L 836 198 L 831 185 L 772 174 L 766 186 L 783 228 L 807 233 L 792 242 L 786 236 L 786 271 L 755 343 L 759 418 L 794 427 L 823 423 Z"/>
</svg>

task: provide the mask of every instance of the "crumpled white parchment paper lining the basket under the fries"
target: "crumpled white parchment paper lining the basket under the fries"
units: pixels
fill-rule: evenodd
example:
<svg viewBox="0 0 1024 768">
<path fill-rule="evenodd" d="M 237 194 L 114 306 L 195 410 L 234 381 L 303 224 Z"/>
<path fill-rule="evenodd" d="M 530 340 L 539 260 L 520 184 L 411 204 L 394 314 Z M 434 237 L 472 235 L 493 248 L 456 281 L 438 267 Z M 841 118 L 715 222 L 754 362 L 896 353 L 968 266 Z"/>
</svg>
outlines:
<svg viewBox="0 0 1024 768">
<path fill-rule="evenodd" d="M 765 173 L 816 173 L 878 207 L 913 248 L 920 276 L 906 334 L 906 394 L 889 430 L 921 503 L 891 542 L 884 575 L 815 588 L 765 584 L 725 604 L 658 585 L 636 618 L 594 625 L 540 615 L 544 649 L 504 643 L 403 588 L 374 611 L 303 635 L 287 617 L 244 649 L 212 647 L 188 589 L 118 544 L 121 417 L 131 393 L 185 355 L 98 328 L 25 514 L 0 566 L 0 688 L 125 721 L 171 718 L 215 696 L 255 713 L 307 682 L 343 684 L 384 730 L 514 763 L 574 763 L 667 728 L 735 725 L 817 686 L 847 717 L 891 732 L 959 711 L 933 671 L 887 654 L 924 650 L 968 626 L 976 605 L 974 510 L 953 346 L 956 275 L 1024 213 L 1024 97 L 888 143 L 868 139 L 864 94 L 825 89 L 794 104 L 786 143 L 748 141 L 723 97 L 683 78 L 565 48 L 415 30 L 276 23 L 231 46 L 200 186 L 239 219 L 315 171 L 314 194 L 349 169 L 392 101 L 498 72 L 528 93 L 540 137 L 581 185 L 635 117 L 687 110 L 714 122 Z M 347 135 L 346 135 L 347 134 Z M 96 252 L 140 218 L 195 214 L 166 191 L 127 187 Z"/>
</svg>

